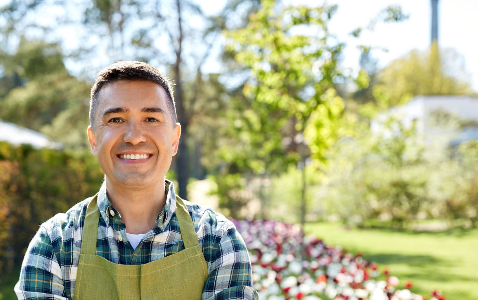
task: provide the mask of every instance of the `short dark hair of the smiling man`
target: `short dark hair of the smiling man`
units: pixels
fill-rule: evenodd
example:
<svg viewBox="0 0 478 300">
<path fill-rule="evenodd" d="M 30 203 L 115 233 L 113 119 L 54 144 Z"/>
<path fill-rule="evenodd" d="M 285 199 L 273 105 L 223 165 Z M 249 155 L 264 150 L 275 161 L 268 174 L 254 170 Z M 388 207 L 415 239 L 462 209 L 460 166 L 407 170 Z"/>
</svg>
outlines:
<svg viewBox="0 0 478 300">
<path fill-rule="evenodd" d="M 94 127 L 95 114 L 100 100 L 98 95 L 103 86 L 120 80 L 145 80 L 159 84 L 168 95 L 168 108 L 176 123 L 176 105 L 174 103 L 173 89 L 168 77 L 159 73 L 151 65 L 140 61 L 119 61 L 101 70 L 96 76 L 96 81 L 91 88 L 90 98 L 90 125 Z"/>
</svg>

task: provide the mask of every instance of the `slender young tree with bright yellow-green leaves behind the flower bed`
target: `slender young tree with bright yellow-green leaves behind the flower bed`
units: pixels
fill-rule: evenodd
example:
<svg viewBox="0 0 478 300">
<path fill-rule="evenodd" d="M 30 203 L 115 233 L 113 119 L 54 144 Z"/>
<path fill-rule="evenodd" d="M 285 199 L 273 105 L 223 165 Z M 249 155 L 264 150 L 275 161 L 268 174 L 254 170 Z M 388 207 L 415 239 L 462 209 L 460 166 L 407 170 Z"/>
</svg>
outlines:
<svg viewBox="0 0 478 300">
<path fill-rule="evenodd" d="M 336 137 L 332 124 L 343 109 L 331 90 L 342 77 L 337 68 L 342 44 L 330 41 L 327 28 L 335 9 L 266 0 L 247 26 L 227 32 L 228 49 L 250 70 L 243 88 L 247 102 L 230 118 L 237 143 L 222 156 L 228 173 L 264 176 L 305 164 L 309 156 L 324 159 L 323 150 Z M 305 211 L 303 202 L 302 223 Z"/>
</svg>

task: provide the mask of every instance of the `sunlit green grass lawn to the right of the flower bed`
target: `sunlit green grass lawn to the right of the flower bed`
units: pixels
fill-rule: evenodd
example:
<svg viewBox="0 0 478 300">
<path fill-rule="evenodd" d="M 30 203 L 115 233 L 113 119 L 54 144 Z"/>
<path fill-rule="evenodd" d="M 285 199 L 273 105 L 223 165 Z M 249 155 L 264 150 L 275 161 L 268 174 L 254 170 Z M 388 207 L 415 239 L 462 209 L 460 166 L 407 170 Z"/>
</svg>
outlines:
<svg viewBox="0 0 478 300">
<path fill-rule="evenodd" d="M 430 298 L 429 292 L 439 289 L 447 300 L 478 299 L 478 229 L 396 232 L 309 223 L 305 231 L 326 245 L 362 253 L 379 270 L 387 267 L 402 287 L 411 280 L 414 293 Z"/>
</svg>

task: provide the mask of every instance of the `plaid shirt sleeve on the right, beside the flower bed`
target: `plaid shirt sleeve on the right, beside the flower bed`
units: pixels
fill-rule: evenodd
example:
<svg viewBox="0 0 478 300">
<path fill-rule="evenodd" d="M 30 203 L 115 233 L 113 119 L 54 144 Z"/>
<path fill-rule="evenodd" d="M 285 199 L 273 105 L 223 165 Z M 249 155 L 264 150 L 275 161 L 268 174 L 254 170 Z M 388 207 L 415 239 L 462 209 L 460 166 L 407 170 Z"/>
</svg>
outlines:
<svg viewBox="0 0 478 300">
<path fill-rule="evenodd" d="M 257 300 L 247 248 L 234 225 L 225 230 L 218 245 L 202 299 Z"/>
</svg>

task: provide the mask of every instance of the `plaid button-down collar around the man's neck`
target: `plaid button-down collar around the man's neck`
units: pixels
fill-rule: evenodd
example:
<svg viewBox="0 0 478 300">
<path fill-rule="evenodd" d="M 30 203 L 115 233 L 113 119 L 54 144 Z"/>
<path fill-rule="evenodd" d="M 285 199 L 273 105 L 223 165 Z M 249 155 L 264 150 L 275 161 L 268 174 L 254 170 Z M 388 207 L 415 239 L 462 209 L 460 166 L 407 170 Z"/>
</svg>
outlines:
<svg viewBox="0 0 478 300">
<path fill-rule="evenodd" d="M 166 204 L 164 205 L 163 210 L 156 217 L 156 225 L 161 230 L 166 228 L 166 225 L 169 223 L 172 215 L 176 211 L 176 193 L 174 192 L 173 182 L 165 179 L 164 191 L 166 193 Z M 110 222 L 119 224 L 121 216 L 108 199 L 105 181 L 103 181 L 98 193 L 98 209 L 100 210 L 100 215 L 105 221 L 107 227 L 110 226 Z"/>
</svg>

